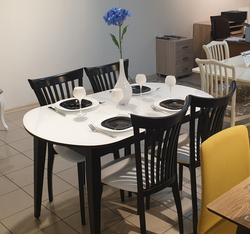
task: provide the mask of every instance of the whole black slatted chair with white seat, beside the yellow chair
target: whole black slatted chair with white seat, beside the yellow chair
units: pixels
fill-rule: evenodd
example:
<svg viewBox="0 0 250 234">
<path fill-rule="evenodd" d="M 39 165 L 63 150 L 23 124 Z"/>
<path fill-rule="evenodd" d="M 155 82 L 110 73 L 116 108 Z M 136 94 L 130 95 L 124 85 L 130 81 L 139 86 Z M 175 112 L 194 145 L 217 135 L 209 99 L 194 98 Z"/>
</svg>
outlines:
<svg viewBox="0 0 250 234">
<path fill-rule="evenodd" d="M 224 114 L 235 90 L 236 82 L 233 81 L 230 92 L 224 97 L 190 96 L 189 142 L 178 145 L 177 162 L 179 163 L 180 190 L 182 190 L 183 167 L 187 167 L 190 171 L 193 233 L 197 233 L 198 222 L 196 168 L 200 166 L 200 144 L 222 130 Z M 198 113 L 197 109 L 199 109 Z"/>
</svg>

